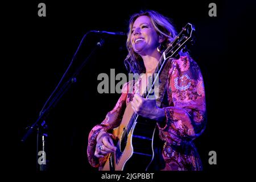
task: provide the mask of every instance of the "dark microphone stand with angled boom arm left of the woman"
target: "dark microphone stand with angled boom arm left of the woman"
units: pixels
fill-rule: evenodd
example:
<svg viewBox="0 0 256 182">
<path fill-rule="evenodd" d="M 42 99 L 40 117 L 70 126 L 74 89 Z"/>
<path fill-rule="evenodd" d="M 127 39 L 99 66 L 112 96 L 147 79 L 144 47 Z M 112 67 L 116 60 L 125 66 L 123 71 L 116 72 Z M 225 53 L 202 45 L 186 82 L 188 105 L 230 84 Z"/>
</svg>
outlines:
<svg viewBox="0 0 256 182">
<path fill-rule="evenodd" d="M 88 32 L 89 33 L 89 32 Z M 88 34 L 87 33 L 87 34 Z M 85 36 L 81 40 L 81 43 L 83 42 Z M 80 43 L 80 45 L 81 45 Z M 48 170 L 48 160 L 46 160 L 46 154 L 48 154 L 47 149 L 47 139 L 48 139 L 48 127 L 46 124 L 46 118 L 49 115 L 49 112 L 56 106 L 56 104 L 60 101 L 61 97 L 64 95 L 64 93 L 67 92 L 67 90 L 71 87 L 73 83 L 76 82 L 76 77 L 81 72 L 82 68 L 84 68 L 85 64 L 88 62 L 89 58 L 94 55 L 96 50 L 99 47 L 102 47 L 104 44 L 104 39 L 101 39 L 100 42 L 96 44 L 96 47 L 90 52 L 89 56 L 86 57 L 86 59 L 82 62 L 79 68 L 76 69 L 75 73 L 66 81 L 63 86 L 59 89 L 59 91 L 56 93 L 55 97 L 52 98 L 51 102 L 49 102 L 48 107 L 46 109 L 42 110 L 39 114 L 38 119 L 36 119 L 36 122 L 32 126 L 28 126 L 28 131 L 26 134 L 24 134 L 22 138 L 22 142 L 25 142 L 26 139 L 36 130 L 37 131 L 37 139 L 36 139 L 36 169 L 37 171 L 47 171 Z M 80 48 L 80 46 L 79 46 Z M 77 51 L 79 50 L 77 49 Z M 76 53 L 77 53 L 76 51 Z M 76 56 L 76 53 L 73 57 Z M 68 69 L 67 69 L 68 71 Z M 54 93 L 54 91 L 53 91 Z M 39 156 L 41 155 L 41 156 Z"/>
</svg>

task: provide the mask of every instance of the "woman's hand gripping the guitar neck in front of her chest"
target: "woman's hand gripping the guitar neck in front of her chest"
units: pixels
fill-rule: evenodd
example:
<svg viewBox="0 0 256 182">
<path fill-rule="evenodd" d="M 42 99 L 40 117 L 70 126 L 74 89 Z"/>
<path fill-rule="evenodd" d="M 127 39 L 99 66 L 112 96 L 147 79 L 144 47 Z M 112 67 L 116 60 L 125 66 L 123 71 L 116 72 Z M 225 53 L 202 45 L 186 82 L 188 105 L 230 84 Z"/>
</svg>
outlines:
<svg viewBox="0 0 256 182">
<path fill-rule="evenodd" d="M 133 101 L 131 101 L 131 107 L 135 113 L 144 118 L 162 121 L 165 117 L 164 110 L 156 106 L 155 100 L 143 98 L 137 93 L 134 94 Z"/>
</svg>

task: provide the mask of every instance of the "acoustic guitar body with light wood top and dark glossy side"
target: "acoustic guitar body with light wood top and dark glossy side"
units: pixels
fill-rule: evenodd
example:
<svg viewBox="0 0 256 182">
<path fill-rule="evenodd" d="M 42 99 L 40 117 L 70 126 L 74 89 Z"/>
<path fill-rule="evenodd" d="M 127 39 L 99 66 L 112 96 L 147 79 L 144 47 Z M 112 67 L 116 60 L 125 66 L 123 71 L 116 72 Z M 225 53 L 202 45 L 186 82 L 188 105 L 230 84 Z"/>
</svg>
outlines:
<svg viewBox="0 0 256 182">
<path fill-rule="evenodd" d="M 129 121 L 133 117 L 131 104 L 127 104 L 119 127 L 113 130 L 118 139 L 117 151 L 109 155 L 102 171 L 123 171 L 138 169 L 146 171 L 154 160 L 154 134 L 156 123 L 145 118 L 137 119 L 127 133 Z"/>
</svg>

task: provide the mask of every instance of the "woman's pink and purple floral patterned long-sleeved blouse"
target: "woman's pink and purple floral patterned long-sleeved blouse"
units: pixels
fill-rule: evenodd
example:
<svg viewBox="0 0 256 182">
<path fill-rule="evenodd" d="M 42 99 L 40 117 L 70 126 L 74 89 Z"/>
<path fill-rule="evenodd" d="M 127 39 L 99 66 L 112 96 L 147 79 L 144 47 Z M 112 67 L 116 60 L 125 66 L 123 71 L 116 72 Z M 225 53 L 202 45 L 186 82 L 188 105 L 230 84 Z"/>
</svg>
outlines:
<svg viewBox="0 0 256 182">
<path fill-rule="evenodd" d="M 129 85 L 127 84 L 123 90 Z M 203 77 L 196 62 L 187 56 L 173 60 L 168 72 L 167 86 L 167 106 L 163 107 L 166 125 L 163 127 L 158 125 L 159 137 L 164 142 L 162 156 L 165 167 L 162 170 L 201 170 L 201 160 L 193 139 L 199 137 L 205 129 L 206 107 Z M 107 157 L 98 159 L 94 156 L 98 133 L 118 127 L 126 104 L 133 99 L 134 92 L 122 92 L 114 109 L 106 115 L 102 123 L 94 126 L 90 131 L 87 155 L 93 167 L 101 168 L 107 159 Z M 113 135 L 112 138 L 115 139 Z"/>
</svg>

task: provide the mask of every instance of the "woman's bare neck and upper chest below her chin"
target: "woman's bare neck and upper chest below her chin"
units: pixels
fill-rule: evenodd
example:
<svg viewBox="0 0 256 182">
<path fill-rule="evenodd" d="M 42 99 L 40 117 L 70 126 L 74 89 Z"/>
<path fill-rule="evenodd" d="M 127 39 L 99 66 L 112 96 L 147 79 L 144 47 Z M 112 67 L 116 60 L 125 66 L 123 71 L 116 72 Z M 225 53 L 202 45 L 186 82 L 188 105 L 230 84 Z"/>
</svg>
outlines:
<svg viewBox="0 0 256 182">
<path fill-rule="evenodd" d="M 144 66 L 146 68 L 146 73 L 153 73 L 161 55 L 158 51 L 154 51 L 151 55 L 142 55 Z"/>
</svg>

